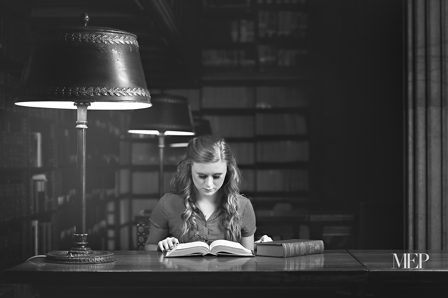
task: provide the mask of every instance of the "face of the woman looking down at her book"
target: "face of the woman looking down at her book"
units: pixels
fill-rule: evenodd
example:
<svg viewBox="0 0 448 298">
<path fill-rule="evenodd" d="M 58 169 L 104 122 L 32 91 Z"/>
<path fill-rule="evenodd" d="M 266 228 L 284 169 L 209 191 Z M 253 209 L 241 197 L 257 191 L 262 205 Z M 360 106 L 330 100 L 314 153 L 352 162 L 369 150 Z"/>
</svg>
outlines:
<svg viewBox="0 0 448 298">
<path fill-rule="evenodd" d="M 191 165 L 193 183 L 201 197 L 214 196 L 223 185 L 226 173 L 227 163 L 222 160 L 215 163 L 193 163 Z"/>
</svg>

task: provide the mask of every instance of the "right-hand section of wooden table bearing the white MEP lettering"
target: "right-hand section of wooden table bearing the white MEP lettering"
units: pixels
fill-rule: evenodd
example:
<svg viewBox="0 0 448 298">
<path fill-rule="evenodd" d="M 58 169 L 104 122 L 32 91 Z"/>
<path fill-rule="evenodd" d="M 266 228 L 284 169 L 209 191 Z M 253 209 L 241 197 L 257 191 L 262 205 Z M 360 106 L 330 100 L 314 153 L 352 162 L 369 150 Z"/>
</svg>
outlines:
<svg viewBox="0 0 448 298">
<path fill-rule="evenodd" d="M 348 252 L 366 267 L 369 285 L 375 287 L 384 297 L 430 297 L 438 293 L 444 293 L 442 294 L 444 297 L 448 293 L 446 250 L 349 250 Z M 410 266 L 406 262 L 406 268 L 403 264 L 404 254 L 411 254 L 410 260 L 414 259 L 409 261 Z M 420 264 L 420 254 L 426 254 L 429 259 L 425 261 L 427 256 L 422 255 Z M 408 258 L 407 255 L 406 257 Z M 416 268 L 417 266 L 419 268 Z"/>
</svg>

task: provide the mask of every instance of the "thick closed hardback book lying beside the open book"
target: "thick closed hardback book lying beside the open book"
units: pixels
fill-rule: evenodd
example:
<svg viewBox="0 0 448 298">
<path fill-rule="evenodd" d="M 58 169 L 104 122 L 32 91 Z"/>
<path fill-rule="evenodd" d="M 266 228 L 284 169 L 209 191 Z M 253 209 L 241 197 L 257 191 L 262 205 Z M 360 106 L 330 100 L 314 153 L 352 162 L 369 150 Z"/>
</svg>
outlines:
<svg viewBox="0 0 448 298">
<path fill-rule="evenodd" d="M 323 252 L 322 240 L 289 239 L 256 243 L 257 256 L 305 256 Z"/>
</svg>

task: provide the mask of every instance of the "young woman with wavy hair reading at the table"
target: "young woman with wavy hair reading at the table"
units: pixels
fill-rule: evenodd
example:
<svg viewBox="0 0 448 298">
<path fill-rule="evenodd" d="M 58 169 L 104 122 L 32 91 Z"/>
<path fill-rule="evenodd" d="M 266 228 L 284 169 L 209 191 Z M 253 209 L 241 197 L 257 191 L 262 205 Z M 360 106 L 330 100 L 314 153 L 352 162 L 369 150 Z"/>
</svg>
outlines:
<svg viewBox="0 0 448 298">
<path fill-rule="evenodd" d="M 220 136 L 190 139 L 177 162 L 171 185 L 151 213 L 145 250 L 169 252 L 179 243 L 215 240 L 254 249 L 255 214 L 240 193 L 241 172 L 228 143 Z M 263 235 L 257 242 L 272 241 Z"/>
</svg>

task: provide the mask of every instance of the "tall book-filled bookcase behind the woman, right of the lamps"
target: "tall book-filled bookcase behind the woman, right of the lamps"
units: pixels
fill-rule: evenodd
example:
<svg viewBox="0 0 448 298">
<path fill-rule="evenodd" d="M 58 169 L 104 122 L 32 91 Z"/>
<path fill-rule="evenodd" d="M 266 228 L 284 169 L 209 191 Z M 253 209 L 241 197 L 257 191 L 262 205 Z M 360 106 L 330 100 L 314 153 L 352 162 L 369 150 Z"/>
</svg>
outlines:
<svg viewBox="0 0 448 298">
<path fill-rule="evenodd" d="M 255 238 L 339 237 L 336 245 L 343 245 L 353 214 L 326 214 L 341 211 L 319 206 L 310 181 L 310 105 L 319 94 L 311 2 L 203 0 L 196 116 L 208 119 L 237 155 L 257 217 Z"/>
</svg>

